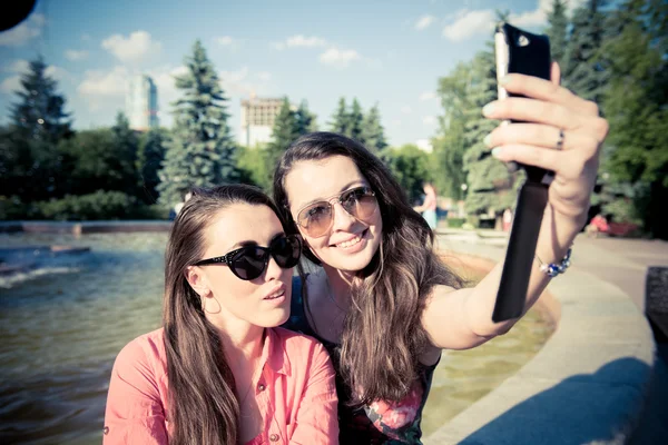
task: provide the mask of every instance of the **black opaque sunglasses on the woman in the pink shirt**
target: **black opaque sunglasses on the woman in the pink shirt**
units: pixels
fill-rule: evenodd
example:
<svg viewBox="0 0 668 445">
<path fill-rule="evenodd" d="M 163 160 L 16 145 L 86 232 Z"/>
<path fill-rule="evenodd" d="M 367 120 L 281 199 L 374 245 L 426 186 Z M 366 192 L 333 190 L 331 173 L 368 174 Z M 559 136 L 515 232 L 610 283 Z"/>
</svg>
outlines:
<svg viewBox="0 0 668 445">
<path fill-rule="evenodd" d="M 269 255 L 278 267 L 289 269 L 299 263 L 302 240 L 296 235 L 281 236 L 269 243 L 269 247 L 244 246 L 222 257 L 203 259 L 194 266 L 226 264 L 229 270 L 244 280 L 259 277 L 269 264 Z"/>
</svg>

